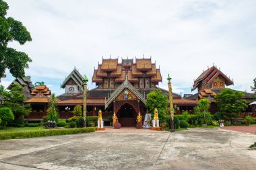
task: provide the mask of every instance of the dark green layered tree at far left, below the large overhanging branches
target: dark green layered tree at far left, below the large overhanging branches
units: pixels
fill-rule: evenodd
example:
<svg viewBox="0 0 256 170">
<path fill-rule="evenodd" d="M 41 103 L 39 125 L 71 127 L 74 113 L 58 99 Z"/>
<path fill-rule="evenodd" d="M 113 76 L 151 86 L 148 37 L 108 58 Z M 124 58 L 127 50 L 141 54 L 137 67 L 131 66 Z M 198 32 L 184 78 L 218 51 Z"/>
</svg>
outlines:
<svg viewBox="0 0 256 170">
<path fill-rule="evenodd" d="M 19 126 L 23 123 L 21 116 L 26 116 L 32 112 L 30 104 L 23 104 L 23 101 L 26 99 L 24 87 L 14 83 L 9 91 L 3 91 L 3 96 L 5 97 L 5 102 L 2 107 L 11 108 L 14 115 L 11 125 Z"/>
</svg>

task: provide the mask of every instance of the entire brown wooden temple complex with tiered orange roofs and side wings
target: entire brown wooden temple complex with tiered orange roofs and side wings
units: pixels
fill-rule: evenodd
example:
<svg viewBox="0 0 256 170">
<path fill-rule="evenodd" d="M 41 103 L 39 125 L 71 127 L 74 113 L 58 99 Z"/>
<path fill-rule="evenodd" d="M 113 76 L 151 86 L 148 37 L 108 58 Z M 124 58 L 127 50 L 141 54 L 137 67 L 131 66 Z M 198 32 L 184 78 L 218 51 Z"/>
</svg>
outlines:
<svg viewBox="0 0 256 170">
<path fill-rule="evenodd" d="M 61 84 L 65 93 L 59 95 L 57 109 L 60 119 L 67 119 L 73 116 L 75 105 L 83 106 L 83 77 L 73 69 Z M 19 83 L 29 91 L 28 99 L 24 103 L 30 103 L 32 113 L 24 116 L 27 121 L 42 121 L 46 116 L 51 90 L 46 85 L 32 87 L 29 79 L 15 79 L 13 83 Z M 110 122 L 108 118 L 117 114 L 122 126 L 135 126 L 137 114 L 146 114 L 146 100 L 150 91 L 160 89 L 166 96 L 168 91 L 158 87 L 162 83 L 160 69 L 156 68 L 156 63 L 151 58 L 134 59 L 103 59 L 94 69 L 92 83 L 96 88 L 87 91 L 87 116 L 98 116 L 98 111 L 102 110 L 102 118 L 106 124 Z M 181 114 L 187 110 L 193 113 L 193 108 L 199 99 L 207 98 L 211 101 L 210 112 L 218 112 L 216 100 L 217 93 L 234 82 L 224 75 L 220 69 L 213 66 L 203 71 L 194 81 L 193 88 L 197 93 L 186 94 L 184 97 L 177 93 L 172 93 L 175 114 Z M 253 102 L 255 97 L 252 93 L 245 93 L 242 97 L 247 103 Z M 70 110 L 65 110 L 65 108 Z M 247 108 L 245 112 L 252 112 L 254 105 Z"/>
</svg>

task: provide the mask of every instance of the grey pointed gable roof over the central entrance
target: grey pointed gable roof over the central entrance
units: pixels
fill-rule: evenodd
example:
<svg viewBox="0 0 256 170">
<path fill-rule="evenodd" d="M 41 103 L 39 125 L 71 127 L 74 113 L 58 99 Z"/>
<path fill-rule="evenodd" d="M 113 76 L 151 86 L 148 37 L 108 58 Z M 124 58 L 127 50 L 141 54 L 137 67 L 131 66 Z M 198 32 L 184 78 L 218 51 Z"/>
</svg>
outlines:
<svg viewBox="0 0 256 170">
<path fill-rule="evenodd" d="M 141 95 L 141 93 L 139 93 L 139 91 L 137 91 L 137 89 L 135 89 L 135 87 L 133 85 L 131 85 L 131 83 L 128 81 L 128 76 L 126 76 L 125 81 L 121 85 L 119 85 L 119 87 L 117 87 L 117 89 L 113 93 L 111 93 L 108 101 L 106 101 L 106 103 L 105 103 L 105 108 L 108 108 L 108 105 L 110 105 L 110 103 L 112 103 L 114 101 L 114 99 L 125 88 L 129 89 L 131 91 L 131 93 L 136 95 L 136 97 L 138 97 L 138 99 L 146 105 L 146 99 L 144 99 L 144 97 Z"/>
</svg>

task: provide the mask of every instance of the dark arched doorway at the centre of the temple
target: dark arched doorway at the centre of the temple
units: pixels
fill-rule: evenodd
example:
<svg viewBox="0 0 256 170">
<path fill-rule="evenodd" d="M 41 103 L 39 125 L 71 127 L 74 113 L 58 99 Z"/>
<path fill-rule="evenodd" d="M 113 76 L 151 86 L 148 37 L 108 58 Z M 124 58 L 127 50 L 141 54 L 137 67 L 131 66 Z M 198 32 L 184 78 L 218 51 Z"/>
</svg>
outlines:
<svg viewBox="0 0 256 170">
<path fill-rule="evenodd" d="M 117 112 L 117 117 L 122 126 L 135 126 L 137 112 L 129 103 L 125 103 Z"/>
</svg>

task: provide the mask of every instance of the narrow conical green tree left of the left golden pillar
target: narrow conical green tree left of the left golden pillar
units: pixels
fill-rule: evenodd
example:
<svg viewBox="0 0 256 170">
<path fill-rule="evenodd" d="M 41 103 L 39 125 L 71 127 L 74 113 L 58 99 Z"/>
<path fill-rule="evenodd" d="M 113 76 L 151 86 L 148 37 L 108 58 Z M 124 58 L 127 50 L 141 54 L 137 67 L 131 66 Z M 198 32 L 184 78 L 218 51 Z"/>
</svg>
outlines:
<svg viewBox="0 0 256 170">
<path fill-rule="evenodd" d="M 55 122 L 59 122 L 59 114 L 56 108 L 57 97 L 55 93 L 53 93 L 49 99 L 49 108 L 46 111 L 46 120 L 55 120 Z"/>
</svg>

